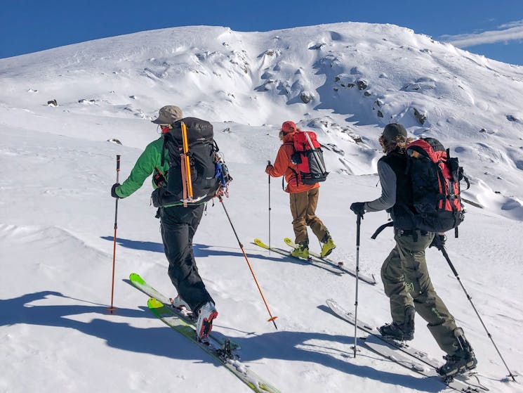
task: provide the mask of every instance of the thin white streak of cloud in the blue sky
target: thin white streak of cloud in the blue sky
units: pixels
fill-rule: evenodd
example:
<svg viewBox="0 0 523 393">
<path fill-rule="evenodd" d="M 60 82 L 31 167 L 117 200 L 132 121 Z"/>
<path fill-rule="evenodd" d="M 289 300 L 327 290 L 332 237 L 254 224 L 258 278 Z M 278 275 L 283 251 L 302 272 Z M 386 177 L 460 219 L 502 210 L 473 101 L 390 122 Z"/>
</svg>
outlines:
<svg viewBox="0 0 523 393">
<path fill-rule="evenodd" d="M 505 23 L 499 26 L 501 30 L 491 30 L 473 34 L 444 35 L 442 40 L 457 46 L 467 48 L 481 44 L 496 44 L 497 42 L 507 42 L 523 40 L 523 20 Z"/>
</svg>

